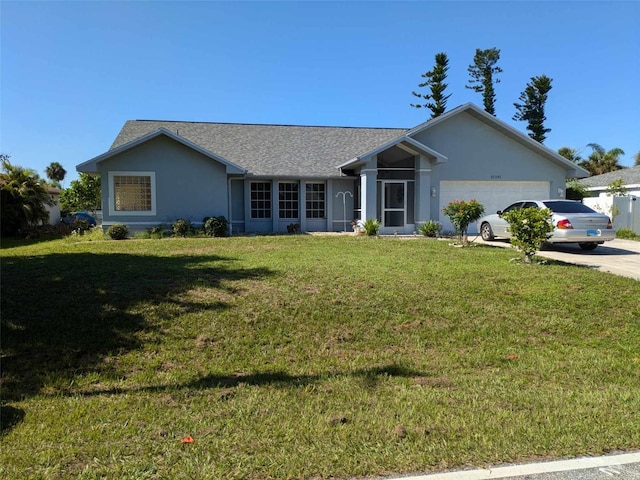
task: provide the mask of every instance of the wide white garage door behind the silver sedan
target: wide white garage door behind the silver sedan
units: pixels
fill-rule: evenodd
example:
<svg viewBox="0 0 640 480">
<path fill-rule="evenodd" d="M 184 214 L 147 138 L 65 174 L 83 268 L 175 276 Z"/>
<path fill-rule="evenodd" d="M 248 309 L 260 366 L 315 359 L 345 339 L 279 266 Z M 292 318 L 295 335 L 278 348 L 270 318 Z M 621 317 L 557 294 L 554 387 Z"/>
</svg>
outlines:
<svg viewBox="0 0 640 480">
<path fill-rule="evenodd" d="M 476 199 L 485 214 L 495 213 L 518 200 L 549 198 L 549 182 L 440 182 L 440 209 L 454 200 Z M 449 219 L 440 213 L 444 230 L 453 230 Z M 477 233 L 469 225 L 469 233 Z"/>
</svg>

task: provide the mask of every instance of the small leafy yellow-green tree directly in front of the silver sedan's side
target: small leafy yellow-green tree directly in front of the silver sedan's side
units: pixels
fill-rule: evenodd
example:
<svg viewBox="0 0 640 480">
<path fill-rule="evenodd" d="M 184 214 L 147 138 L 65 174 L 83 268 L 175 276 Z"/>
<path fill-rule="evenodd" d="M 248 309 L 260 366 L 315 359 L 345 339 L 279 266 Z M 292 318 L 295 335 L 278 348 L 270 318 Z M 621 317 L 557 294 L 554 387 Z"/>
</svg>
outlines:
<svg viewBox="0 0 640 480">
<path fill-rule="evenodd" d="M 551 215 L 548 208 L 530 207 L 510 210 L 502 217 L 509 223 L 511 245 L 522 252 L 524 263 L 531 263 L 553 233 Z"/>
</svg>

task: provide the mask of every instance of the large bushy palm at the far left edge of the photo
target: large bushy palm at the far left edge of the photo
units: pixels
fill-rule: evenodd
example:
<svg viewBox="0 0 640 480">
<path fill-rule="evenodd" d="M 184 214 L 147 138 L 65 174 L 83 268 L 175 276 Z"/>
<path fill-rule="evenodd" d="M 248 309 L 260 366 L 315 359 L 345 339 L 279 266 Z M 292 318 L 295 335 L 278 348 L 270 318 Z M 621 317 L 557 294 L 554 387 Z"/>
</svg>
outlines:
<svg viewBox="0 0 640 480">
<path fill-rule="evenodd" d="M 1 233 L 11 236 L 49 220 L 45 205 L 53 201 L 34 170 L 12 165 L 9 155 L 0 154 Z"/>
</svg>

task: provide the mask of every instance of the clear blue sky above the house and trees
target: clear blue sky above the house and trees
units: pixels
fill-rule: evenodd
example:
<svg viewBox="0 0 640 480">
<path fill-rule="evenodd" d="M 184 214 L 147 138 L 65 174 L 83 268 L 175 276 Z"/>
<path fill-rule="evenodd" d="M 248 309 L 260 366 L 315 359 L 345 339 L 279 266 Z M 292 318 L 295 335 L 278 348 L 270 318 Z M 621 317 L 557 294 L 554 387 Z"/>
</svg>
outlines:
<svg viewBox="0 0 640 480">
<path fill-rule="evenodd" d="M 41 175 L 108 150 L 126 120 L 413 127 L 446 52 L 448 109 L 499 48 L 496 116 L 553 79 L 545 144 L 640 151 L 637 1 L 0 1 L 0 152 Z"/>
</svg>

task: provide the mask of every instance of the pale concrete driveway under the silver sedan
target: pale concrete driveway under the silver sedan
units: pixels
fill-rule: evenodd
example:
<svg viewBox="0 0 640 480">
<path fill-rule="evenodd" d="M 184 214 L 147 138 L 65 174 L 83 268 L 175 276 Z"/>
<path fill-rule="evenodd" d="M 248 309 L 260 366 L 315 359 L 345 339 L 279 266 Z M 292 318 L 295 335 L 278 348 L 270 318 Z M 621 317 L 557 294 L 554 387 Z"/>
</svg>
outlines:
<svg viewBox="0 0 640 480">
<path fill-rule="evenodd" d="M 475 243 L 511 248 L 509 240 L 485 242 L 478 237 Z M 640 242 L 633 240 L 616 238 L 591 251 L 582 250 L 573 243 L 555 244 L 536 255 L 640 280 Z"/>
</svg>

